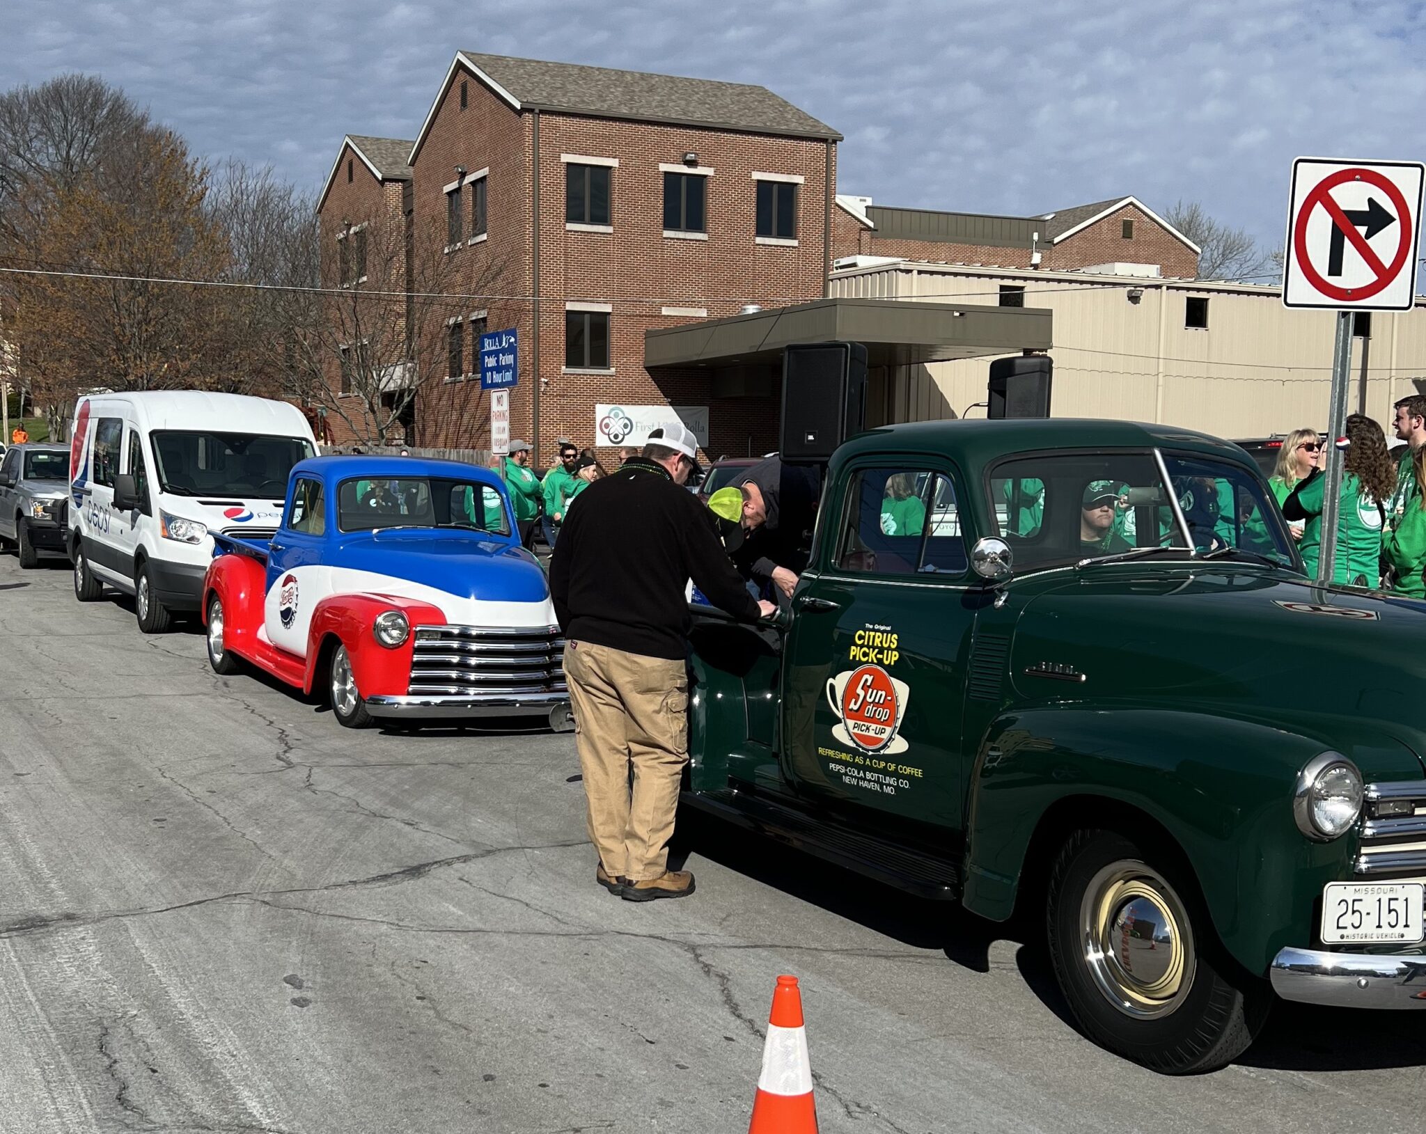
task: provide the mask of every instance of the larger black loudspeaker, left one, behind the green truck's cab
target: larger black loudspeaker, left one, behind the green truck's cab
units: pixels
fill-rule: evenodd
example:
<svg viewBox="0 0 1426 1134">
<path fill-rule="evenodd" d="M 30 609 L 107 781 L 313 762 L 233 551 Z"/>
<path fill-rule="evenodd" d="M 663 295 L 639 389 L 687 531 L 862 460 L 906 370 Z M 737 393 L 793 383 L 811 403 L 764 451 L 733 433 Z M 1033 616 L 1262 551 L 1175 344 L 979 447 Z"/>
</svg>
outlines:
<svg viewBox="0 0 1426 1134">
<path fill-rule="evenodd" d="M 783 355 L 781 458 L 821 464 L 867 419 L 867 348 L 807 342 Z"/>
</svg>

